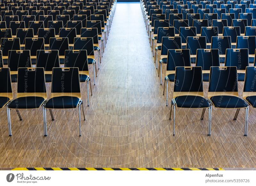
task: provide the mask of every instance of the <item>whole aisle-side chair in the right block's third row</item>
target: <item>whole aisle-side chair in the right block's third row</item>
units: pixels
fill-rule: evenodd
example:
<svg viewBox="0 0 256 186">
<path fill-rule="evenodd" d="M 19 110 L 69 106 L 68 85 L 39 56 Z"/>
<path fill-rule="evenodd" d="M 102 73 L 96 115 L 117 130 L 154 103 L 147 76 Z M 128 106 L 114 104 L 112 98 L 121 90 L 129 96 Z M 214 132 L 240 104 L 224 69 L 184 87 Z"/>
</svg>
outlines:
<svg viewBox="0 0 256 186">
<path fill-rule="evenodd" d="M 162 38 L 161 58 L 159 60 L 160 68 L 158 70 L 158 77 L 160 73 L 160 84 L 162 85 L 162 66 L 167 63 L 169 49 L 182 49 L 180 37 L 163 37 Z M 156 68 L 157 68 L 157 55 L 156 55 Z"/>
</svg>

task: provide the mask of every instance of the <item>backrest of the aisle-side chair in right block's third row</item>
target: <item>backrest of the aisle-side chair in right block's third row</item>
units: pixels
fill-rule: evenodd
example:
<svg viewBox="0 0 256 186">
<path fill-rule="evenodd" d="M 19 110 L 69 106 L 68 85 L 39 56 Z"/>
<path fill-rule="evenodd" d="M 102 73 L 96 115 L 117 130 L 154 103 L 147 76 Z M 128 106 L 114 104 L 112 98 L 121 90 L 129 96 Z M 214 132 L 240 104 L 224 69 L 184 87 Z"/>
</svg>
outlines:
<svg viewBox="0 0 256 186">
<path fill-rule="evenodd" d="M 181 38 L 180 37 L 163 37 L 161 56 L 168 55 L 169 49 L 182 49 Z"/>
</svg>

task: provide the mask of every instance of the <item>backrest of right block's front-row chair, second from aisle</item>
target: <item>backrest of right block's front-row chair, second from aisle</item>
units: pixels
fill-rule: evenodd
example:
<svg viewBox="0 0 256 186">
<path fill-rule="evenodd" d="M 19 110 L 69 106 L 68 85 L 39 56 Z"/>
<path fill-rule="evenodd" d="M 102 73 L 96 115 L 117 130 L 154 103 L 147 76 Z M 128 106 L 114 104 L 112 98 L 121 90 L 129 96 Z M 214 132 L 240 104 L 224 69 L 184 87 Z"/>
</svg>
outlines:
<svg viewBox="0 0 256 186">
<path fill-rule="evenodd" d="M 208 98 L 218 95 L 238 97 L 236 67 L 211 67 Z"/>
</svg>

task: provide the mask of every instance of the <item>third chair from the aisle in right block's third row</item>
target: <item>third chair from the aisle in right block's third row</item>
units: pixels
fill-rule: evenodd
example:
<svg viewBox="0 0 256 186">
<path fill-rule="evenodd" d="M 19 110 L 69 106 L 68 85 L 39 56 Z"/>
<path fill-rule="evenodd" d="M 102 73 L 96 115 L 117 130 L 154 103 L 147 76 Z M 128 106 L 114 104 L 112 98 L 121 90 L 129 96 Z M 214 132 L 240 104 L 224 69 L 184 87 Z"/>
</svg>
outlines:
<svg viewBox="0 0 256 186">
<path fill-rule="evenodd" d="M 225 63 L 226 49 L 231 48 L 231 37 L 230 36 L 213 36 L 211 48 L 219 49 L 220 63 Z"/>
</svg>

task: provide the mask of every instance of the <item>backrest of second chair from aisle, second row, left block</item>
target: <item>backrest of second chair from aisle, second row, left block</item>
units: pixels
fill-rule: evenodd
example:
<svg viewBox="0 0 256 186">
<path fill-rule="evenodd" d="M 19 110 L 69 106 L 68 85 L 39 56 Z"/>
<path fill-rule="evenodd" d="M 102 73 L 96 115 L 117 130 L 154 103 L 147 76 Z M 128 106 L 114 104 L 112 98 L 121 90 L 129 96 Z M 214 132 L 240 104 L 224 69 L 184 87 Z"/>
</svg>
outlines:
<svg viewBox="0 0 256 186">
<path fill-rule="evenodd" d="M 44 68 L 45 74 L 52 74 L 53 67 L 60 67 L 58 50 L 37 50 L 36 67 Z"/>
</svg>

